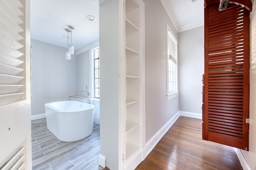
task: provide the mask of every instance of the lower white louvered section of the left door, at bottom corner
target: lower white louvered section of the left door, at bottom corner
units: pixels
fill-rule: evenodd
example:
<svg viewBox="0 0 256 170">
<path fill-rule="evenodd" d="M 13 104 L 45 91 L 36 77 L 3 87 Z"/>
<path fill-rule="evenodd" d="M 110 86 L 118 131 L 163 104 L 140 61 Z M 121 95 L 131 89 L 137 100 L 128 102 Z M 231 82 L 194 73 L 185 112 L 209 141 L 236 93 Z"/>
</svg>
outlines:
<svg viewBox="0 0 256 170">
<path fill-rule="evenodd" d="M 16 150 L 14 150 L 13 154 L 10 156 L 9 160 L 4 163 L 1 170 L 23 170 L 26 169 L 26 146 L 24 146 L 25 142 L 23 142 Z"/>
</svg>

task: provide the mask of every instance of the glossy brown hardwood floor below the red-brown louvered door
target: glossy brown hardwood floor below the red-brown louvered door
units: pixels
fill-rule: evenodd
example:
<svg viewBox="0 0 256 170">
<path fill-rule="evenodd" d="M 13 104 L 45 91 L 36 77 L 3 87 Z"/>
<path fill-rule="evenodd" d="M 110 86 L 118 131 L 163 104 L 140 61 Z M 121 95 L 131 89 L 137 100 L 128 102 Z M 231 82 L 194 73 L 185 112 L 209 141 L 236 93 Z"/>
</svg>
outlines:
<svg viewBox="0 0 256 170">
<path fill-rule="evenodd" d="M 202 140 L 200 120 L 179 117 L 136 170 L 242 170 L 230 146 Z"/>
</svg>

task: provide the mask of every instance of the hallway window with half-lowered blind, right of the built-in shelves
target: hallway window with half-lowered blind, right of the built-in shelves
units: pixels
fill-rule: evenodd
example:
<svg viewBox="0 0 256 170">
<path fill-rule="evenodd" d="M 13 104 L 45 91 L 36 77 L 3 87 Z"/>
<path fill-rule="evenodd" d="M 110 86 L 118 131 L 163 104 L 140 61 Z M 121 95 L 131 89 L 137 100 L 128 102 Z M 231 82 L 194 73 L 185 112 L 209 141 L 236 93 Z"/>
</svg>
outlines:
<svg viewBox="0 0 256 170">
<path fill-rule="evenodd" d="M 178 92 L 177 40 L 167 26 L 167 95 Z"/>
</svg>

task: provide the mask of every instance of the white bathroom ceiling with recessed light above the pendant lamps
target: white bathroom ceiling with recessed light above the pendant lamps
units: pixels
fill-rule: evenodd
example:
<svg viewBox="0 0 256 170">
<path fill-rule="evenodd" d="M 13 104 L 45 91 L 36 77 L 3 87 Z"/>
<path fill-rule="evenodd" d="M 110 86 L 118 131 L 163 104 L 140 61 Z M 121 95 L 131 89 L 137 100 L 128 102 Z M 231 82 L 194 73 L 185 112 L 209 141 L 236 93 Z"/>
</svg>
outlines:
<svg viewBox="0 0 256 170">
<path fill-rule="evenodd" d="M 31 0 L 31 38 L 42 42 L 67 47 L 65 31 L 72 30 L 72 45 L 78 50 L 99 39 L 98 0 Z M 92 15 L 95 22 L 86 16 Z"/>
</svg>

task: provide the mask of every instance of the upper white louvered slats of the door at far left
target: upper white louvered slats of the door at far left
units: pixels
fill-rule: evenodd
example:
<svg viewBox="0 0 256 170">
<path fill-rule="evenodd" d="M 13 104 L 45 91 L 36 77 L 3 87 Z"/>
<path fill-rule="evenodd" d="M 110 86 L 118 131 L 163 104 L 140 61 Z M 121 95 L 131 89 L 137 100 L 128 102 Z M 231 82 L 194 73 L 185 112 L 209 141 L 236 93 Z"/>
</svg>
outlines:
<svg viewBox="0 0 256 170">
<path fill-rule="evenodd" d="M 19 0 L 0 1 L 0 105 L 26 98 L 23 8 Z"/>
</svg>

